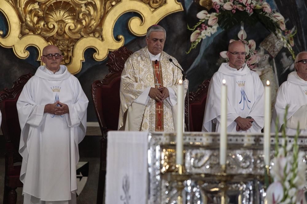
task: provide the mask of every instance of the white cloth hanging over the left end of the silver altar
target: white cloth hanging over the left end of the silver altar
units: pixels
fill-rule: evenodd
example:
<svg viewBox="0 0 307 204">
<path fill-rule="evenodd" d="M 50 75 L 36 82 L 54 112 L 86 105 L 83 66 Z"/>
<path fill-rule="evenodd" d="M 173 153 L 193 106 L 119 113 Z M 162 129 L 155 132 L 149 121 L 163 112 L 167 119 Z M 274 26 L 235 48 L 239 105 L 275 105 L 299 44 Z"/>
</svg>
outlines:
<svg viewBox="0 0 307 204">
<path fill-rule="evenodd" d="M 147 203 L 148 132 L 109 131 L 106 204 Z"/>
</svg>

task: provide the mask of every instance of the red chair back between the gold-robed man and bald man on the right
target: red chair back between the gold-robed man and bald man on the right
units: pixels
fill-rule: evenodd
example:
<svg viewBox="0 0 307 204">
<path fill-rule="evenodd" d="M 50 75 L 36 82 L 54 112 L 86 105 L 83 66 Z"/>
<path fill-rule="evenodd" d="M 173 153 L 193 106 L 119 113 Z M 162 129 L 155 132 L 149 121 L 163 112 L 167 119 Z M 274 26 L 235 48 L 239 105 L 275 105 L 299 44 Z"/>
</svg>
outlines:
<svg viewBox="0 0 307 204">
<path fill-rule="evenodd" d="M 185 98 L 185 125 L 190 132 L 200 132 L 202 129 L 209 83 L 210 80 L 204 81 L 196 92 L 190 92 Z"/>
</svg>

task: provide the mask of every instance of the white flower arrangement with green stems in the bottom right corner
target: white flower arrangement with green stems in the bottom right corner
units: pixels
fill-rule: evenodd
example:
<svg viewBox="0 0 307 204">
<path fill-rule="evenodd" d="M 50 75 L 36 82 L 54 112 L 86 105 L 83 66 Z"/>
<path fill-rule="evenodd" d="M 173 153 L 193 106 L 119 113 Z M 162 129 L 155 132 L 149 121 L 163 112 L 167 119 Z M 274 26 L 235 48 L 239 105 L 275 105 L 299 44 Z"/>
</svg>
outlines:
<svg viewBox="0 0 307 204">
<path fill-rule="evenodd" d="M 306 170 L 307 164 L 302 161 L 305 157 L 304 152 L 298 151 L 297 134 L 294 137 L 293 145 L 288 144 L 286 137 L 286 114 L 282 125 L 282 147 L 278 146 L 278 130 L 275 137 L 275 155 L 272 163 L 271 176 L 274 182 L 266 190 L 266 200 L 271 204 L 306 204 L 304 189 L 307 185 Z M 277 127 L 276 127 L 277 129 Z M 292 149 L 292 155 L 289 151 Z M 274 165 L 273 165 L 274 164 Z"/>
</svg>

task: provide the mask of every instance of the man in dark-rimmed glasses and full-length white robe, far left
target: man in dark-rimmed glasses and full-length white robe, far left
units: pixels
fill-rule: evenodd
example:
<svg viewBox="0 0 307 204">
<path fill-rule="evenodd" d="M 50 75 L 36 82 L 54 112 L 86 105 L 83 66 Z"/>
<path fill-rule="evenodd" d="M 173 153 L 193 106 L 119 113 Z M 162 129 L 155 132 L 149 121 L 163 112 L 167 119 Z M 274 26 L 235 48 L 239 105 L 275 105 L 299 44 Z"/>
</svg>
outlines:
<svg viewBox="0 0 307 204">
<path fill-rule="evenodd" d="M 88 100 L 78 79 L 60 65 L 60 50 L 48 45 L 42 54 L 45 66 L 38 67 L 17 101 L 22 194 L 26 204 L 73 204 Z"/>
</svg>

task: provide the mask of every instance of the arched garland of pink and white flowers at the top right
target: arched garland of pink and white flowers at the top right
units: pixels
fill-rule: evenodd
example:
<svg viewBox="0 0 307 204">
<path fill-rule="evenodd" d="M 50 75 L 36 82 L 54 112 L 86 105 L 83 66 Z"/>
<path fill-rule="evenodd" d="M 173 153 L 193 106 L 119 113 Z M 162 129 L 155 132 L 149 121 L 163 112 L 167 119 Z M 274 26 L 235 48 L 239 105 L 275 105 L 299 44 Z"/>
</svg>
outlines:
<svg viewBox="0 0 307 204">
<path fill-rule="evenodd" d="M 293 36 L 296 32 L 286 30 L 285 18 L 280 13 L 272 11 L 265 0 L 212 0 L 212 2 L 216 12 L 208 13 L 202 10 L 196 14 L 196 17 L 200 19 L 199 22 L 192 28 L 188 26 L 188 30 L 193 32 L 190 36 L 191 47 L 187 54 L 201 40 L 215 33 L 219 26 L 229 29 L 240 24 L 241 21 L 250 25 L 255 25 L 260 21 L 282 40 L 284 47 L 287 47 L 293 59 L 295 58 L 292 47 L 294 46 Z"/>
</svg>

